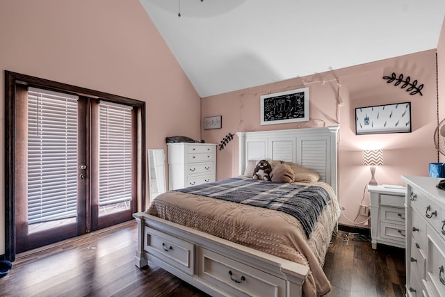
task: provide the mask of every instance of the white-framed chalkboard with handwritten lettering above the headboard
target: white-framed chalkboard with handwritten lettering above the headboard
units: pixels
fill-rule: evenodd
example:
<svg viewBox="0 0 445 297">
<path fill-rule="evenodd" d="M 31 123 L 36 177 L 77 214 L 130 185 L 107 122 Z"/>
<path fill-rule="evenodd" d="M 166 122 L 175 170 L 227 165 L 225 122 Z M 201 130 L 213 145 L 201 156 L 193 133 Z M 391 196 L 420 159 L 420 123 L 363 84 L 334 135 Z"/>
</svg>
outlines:
<svg viewBox="0 0 445 297">
<path fill-rule="evenodd" d="M 262 95 L 261 125 L 309 120 L 309 88 Z"/>
</svg>

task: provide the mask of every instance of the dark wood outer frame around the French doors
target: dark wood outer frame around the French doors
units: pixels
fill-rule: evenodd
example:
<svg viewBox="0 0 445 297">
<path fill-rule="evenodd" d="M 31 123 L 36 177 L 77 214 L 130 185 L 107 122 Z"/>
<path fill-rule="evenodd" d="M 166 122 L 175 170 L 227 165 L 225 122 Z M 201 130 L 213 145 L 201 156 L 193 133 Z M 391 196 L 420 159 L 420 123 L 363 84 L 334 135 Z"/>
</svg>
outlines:
<svg viewBox="0 0 445 297">
<path fill-rule="evenodd" d="M 41 79 L 32 77 L 26 74 L 19 74 L 17 72 L 10 72 L 5 70 L 5 258 L 9 261 L 15 261 L 16 243 L 15 243 L 15 129 L 16 129 L 16 106 L 15 106 L 15 88 L 17 84 L 25 86 L 33 86 L 37 88 L 45 88 L 63 93 L 72 93 L 83 97 L 90 97 L 93 99 L 104 100 L 108 102 L 115 102 L 133 106 L 134 109 L 140 113 L 139 123 L 140 134 L 138 135 L 138 143 L 141 151 L 138 156 L 141 168 L 138 168 L 139 175 L 137 177 L 138 193 L 136 196 L 140 199 L 140 203 L 145 208 L 145 174 L 146 174 L 146 156 L 145 156 L 145 102 L 113 95 L 109 93 L 100 92 L 97 90 L 90 90 L 88 88 L 81 88 L 79 86 L 72 86 L 67 83 L 60 83 L 57 81 L 50 81 L 48 79 Z M 131 219 L 131 215 L 129 216 Z"/>
</svg>

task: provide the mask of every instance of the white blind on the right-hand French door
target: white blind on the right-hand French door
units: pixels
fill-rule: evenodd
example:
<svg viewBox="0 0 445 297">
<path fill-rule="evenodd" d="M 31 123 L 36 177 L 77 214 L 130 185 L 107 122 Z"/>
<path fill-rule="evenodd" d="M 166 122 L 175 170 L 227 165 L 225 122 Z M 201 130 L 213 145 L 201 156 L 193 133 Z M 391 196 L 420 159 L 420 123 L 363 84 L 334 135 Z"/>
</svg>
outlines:
<svg viewBox="0 0 445 297">
<path fill-rule="evenodd" d="M 99 207 L 131 200 L 131 109 L 99 104 Z"/>
</svg>

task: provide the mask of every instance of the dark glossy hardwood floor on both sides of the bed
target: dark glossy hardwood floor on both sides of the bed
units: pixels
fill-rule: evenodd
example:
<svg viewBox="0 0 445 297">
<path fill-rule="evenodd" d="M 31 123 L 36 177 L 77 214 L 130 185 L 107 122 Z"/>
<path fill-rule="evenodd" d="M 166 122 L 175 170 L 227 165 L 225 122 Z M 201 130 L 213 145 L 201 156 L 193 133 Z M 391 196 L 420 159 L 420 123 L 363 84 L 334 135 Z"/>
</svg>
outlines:
<svg viewBox="0 0 445 297">
<path fill-rule="evenodd" d="M 327 252 L 327 296 L 405 296 L 404 250 L 339 232 Z M 136 223 L 17 255 L 1 296 L 208 296 L 163 269 L 134 265 Z"/>
</svg>

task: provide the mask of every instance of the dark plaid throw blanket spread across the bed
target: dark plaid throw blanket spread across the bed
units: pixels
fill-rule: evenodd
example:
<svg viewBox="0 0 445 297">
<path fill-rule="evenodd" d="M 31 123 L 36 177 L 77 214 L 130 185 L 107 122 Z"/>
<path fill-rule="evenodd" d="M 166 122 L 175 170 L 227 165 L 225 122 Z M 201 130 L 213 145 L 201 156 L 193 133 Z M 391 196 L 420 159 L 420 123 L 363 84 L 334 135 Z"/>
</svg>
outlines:
<svg viewBox="0 0 445 297">
<path fill-rule="evenodd" d="M 278 184 L 255 179 L 223 179 L 175 191 L 283 211 L 300 220 L 308 238 L 318 216 L 330 203 L 330 195 L 320 186 Z"/>
</svg>

